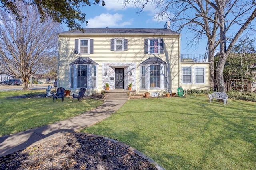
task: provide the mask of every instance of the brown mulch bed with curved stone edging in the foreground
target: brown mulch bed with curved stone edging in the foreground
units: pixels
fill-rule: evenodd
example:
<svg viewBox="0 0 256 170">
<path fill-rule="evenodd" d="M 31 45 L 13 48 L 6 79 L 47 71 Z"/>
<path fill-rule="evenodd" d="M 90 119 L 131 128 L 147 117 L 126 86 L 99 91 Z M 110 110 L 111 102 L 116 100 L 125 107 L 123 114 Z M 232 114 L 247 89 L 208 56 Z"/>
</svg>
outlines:
<svg viewBox="0 0 256 170">
<path fill-rule="evenodd" d="M 104 138 L 63 135 L 0 158 L 0 169 L 157 170 L 148 160 Z"/>
</svg>

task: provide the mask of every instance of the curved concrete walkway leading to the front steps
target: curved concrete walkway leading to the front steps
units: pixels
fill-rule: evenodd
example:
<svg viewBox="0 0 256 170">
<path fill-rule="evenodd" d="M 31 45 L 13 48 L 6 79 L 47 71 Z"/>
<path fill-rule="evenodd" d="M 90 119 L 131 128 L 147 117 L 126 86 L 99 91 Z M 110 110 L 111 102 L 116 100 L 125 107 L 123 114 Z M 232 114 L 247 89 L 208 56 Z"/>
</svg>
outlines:
<svg viewBox="0 0 256 170">
<path fill-rule="evenodd" d="M 125 102 L 126 100 L 105 100 L 103 104 L 96 109 L 76 117 L 27 131 L 2 136 L 0 137 L 0 157 L 60 137 L 67 132 L 74 132 L 88 127 L 89 125 L 106 119 L 110 114 L 123 106 Z"/>
</svg>

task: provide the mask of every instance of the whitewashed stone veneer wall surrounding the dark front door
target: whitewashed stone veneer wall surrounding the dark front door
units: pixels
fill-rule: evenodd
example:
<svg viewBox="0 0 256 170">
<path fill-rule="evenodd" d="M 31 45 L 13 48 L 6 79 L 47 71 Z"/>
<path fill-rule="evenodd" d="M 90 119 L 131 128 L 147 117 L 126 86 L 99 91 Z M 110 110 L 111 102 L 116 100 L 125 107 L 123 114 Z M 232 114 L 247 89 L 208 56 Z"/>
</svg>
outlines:
<svg viewBox="0 0 256 170">
<path fill-rule="evenodd" d="M 110 90 L 115 89 L 115 80 L 110 80 L 110 77 L 115 77 L 115 68 L 124 68 L 124 90 L 130 83 L 132 90 L 136 90 L 136 63 L 102 63 L 102 89 L 105 89 L 105 83 L 110 84 Z M 106 76 L 105 71 L 108 72 Z"/>
</svg>

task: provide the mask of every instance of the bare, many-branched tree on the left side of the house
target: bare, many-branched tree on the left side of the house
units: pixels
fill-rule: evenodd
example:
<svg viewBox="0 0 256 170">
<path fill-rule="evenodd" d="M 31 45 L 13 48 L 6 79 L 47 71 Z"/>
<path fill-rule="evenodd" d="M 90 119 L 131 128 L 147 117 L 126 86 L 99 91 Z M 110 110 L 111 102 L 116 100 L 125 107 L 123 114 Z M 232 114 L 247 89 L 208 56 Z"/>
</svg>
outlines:
<svg viewBox="0 0 256 170">
<path fill-rule="evenodd" d="M 9 73 L 21 77 L 23 90 L 28 90 L 29 78 L 43 67 L 42 59 L 56 55 L 59 23 L 41 23 L 37 10 L 20 4 L 21 21 L 15 14 L 0 9 L 0 64 Z"/>
</svg>

